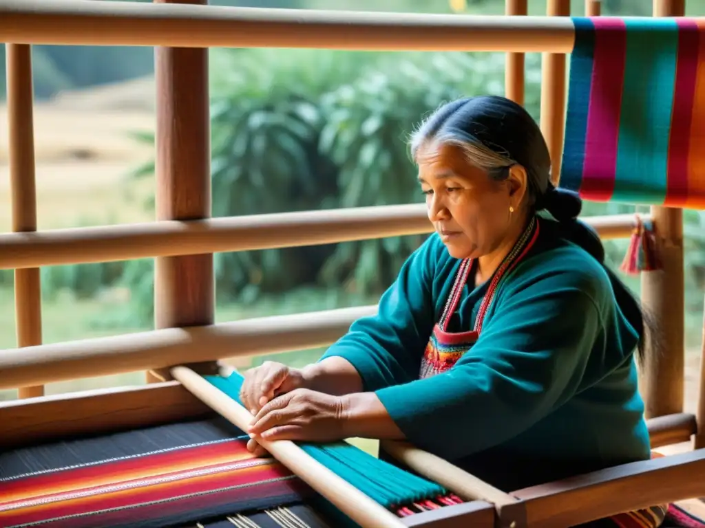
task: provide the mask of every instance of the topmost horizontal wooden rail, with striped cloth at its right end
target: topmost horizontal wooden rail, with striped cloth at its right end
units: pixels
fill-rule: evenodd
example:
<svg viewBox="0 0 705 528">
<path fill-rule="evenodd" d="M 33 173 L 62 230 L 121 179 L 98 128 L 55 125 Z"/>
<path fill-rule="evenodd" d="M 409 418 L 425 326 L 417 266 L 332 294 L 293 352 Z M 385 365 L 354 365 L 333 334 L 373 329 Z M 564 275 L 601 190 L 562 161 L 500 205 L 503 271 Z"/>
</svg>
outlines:
<svg viewBox="0 0 705 528">
<path fill-rule="evenodd" d="M 570 18 L 0 0 L 0 42 L 570 53 Z"/>
</svg>

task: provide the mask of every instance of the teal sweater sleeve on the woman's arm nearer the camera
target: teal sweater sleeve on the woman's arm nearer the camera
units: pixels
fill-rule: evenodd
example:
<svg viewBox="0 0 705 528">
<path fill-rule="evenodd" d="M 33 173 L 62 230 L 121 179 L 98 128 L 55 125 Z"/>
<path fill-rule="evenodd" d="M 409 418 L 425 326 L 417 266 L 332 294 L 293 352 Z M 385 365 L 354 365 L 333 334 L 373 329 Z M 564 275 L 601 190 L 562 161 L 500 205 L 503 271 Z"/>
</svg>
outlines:
<svg viewBox="0 0 705 528">
<path fill-rule="evenodd" d="M 453 369 L 376 394 L 407 439 L 444 458 L 501 444 L 567 401 L 586 372 L 604 372 L 608 303 L 594 300 L 604 291 L 570 267 L 526 277 Z"/>
</svg>

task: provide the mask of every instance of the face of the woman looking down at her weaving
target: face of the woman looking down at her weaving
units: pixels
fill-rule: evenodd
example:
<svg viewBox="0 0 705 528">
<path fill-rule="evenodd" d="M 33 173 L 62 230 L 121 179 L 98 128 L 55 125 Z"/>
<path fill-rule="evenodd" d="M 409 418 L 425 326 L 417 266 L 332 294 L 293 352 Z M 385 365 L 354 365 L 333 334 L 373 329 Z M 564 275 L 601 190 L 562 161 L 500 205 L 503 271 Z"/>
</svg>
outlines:
<svg viewBox="0 0 705 528">
<path fill-rule="evenodd" d="M 513 175 L 501 182 L 492 180 L 467 163 L 455 146 L 422 145 L 417 163 L 429 220 L 448 253 L 454 258 L 479 258 L 498 249 L 519 220 L 521 182 Z"/>
</svg>

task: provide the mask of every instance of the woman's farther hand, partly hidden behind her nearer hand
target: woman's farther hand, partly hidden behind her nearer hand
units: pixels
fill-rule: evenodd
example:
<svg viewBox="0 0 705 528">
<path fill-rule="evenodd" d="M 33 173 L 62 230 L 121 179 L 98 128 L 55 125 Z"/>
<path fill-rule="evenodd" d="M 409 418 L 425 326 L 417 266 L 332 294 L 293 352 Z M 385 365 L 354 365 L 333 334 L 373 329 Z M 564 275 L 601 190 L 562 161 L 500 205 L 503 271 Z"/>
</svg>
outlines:
<svg viewBox="0 0 705 528">
<path fill-rule="evenodd" d="M 247 370 L 244 378 L 240 400 L 253 415 L 275 396 L 305 388 L 305 377 L 300 370 L 276 361 L 265 361 L 259 367 Z"/>
</svg>

